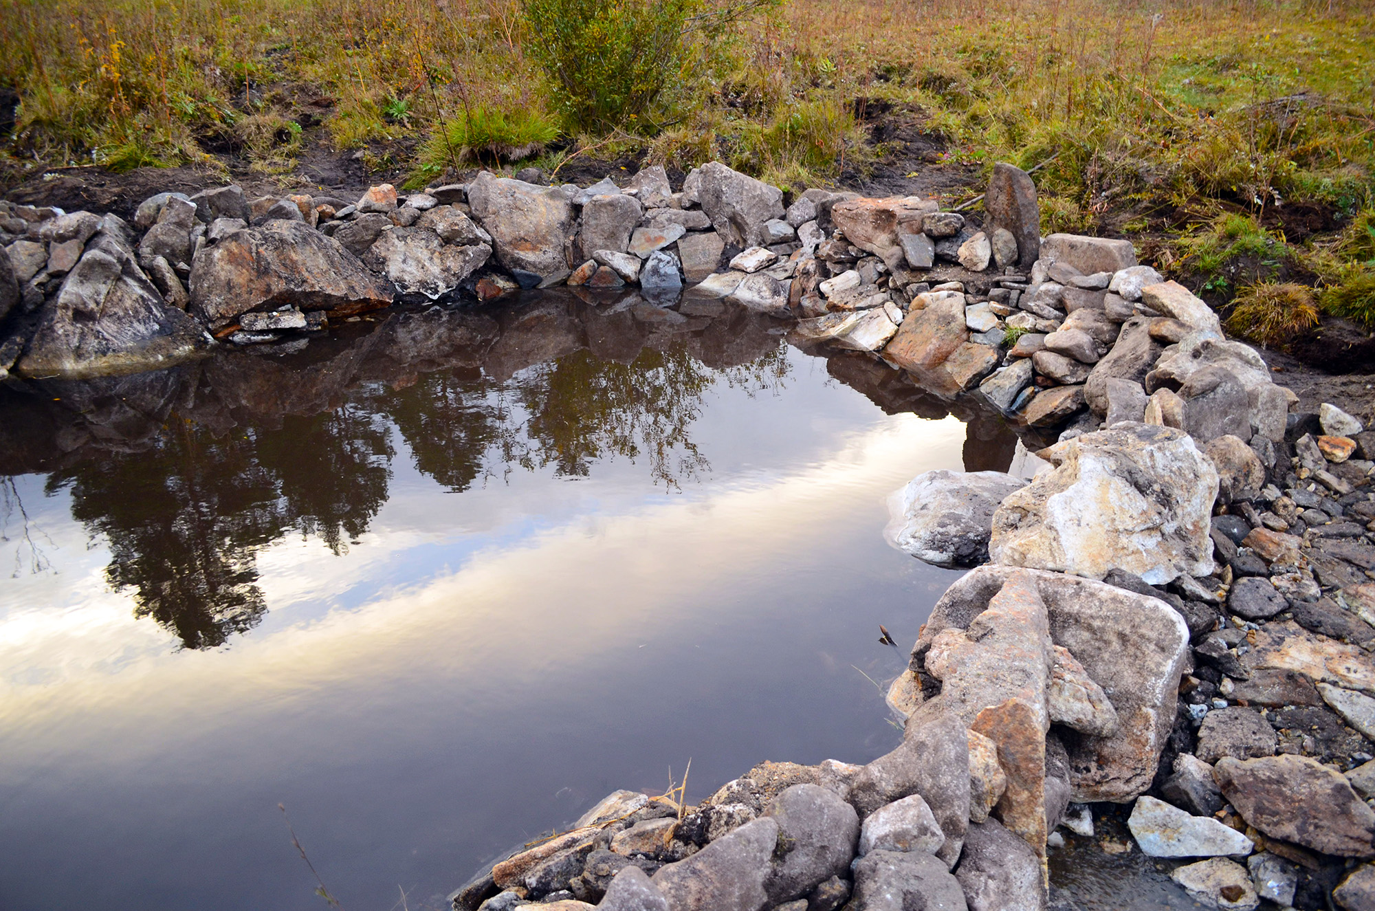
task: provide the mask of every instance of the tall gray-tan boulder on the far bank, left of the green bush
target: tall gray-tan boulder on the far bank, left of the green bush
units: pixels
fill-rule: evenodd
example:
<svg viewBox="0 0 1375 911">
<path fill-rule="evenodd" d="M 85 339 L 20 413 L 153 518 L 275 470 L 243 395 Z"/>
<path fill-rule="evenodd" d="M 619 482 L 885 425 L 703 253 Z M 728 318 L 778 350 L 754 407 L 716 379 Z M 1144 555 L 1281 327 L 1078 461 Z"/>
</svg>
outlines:
<svg viewBox="0 0 1375 911">
<path fill-rule="evenodd" d="M 568 278 L 566 242 L 573 204 L 558 187 L 496 178 L 484 171 L 468 184 L 473 217 L 492 235 L 496 259 L 525 286 Z"/>
</svg>

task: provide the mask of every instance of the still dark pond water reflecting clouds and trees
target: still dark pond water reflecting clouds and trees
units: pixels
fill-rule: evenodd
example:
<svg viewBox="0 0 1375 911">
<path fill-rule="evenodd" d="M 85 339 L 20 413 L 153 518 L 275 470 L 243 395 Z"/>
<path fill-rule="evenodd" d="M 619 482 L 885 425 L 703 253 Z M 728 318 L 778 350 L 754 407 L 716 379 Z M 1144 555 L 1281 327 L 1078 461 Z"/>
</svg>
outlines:
<svg viewBox="0 0 1375 911">
<path fill-rule="evenodd" d="M 1015 439 L 719 306 L 546 294 L 0 387 L 7 908 L 440 908 L 617 787 L 868 761 Z M 1114 874 L 1116 875 L 1116 874 Z M 1092 903 L 1086 907 L 1092 907 Z M 1152 904 L 1150 907 L 1159 907 Z"/>
</svg>

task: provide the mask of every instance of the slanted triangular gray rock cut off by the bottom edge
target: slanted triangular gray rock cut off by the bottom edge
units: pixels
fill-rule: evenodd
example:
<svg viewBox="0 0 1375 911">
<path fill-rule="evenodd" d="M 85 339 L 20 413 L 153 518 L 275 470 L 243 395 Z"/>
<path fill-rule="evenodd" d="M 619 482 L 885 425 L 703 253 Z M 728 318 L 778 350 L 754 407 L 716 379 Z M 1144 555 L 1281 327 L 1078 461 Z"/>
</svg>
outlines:
<svg viewBox="0 0 1375 911">
<path fill-rule="evenodd" d="M 777 846 L 778 823 L 764 816 L 667 864 L 650 882 L 670 911 L 760 911 L 770 904 L 764 883 Z"/>
</svg>

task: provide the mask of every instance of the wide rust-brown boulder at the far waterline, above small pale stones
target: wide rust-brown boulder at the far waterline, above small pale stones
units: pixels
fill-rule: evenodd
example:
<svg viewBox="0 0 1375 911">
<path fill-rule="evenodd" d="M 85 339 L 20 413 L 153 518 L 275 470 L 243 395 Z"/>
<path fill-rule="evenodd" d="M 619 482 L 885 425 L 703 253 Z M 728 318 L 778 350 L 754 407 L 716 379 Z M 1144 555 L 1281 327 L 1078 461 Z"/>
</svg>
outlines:
<svg viewBox="0 0 1375 911">
<path fill-rule="evenodd" d="M 206 326 L 231 325 L 250 310 L 293 304 L 337 315 L 377 310 L 395 289 L 334 238 L 302 222 L 274 219 L 208 246 L 191 267 L 191 315 Z"/>
</svg>

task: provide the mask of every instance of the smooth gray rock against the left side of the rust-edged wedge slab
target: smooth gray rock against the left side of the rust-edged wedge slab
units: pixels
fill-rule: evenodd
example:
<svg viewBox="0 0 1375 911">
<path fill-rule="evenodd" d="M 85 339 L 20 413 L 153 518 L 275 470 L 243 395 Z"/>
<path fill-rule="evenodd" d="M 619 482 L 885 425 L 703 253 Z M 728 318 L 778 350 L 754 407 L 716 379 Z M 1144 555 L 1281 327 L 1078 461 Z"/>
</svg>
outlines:
<svg viewBox="0 0 1375 911">
<path fill-rule="evenodd" d="M 865 765 L 854 776 L 847 798 L 864 817 L 920 794 L 945 833 L 936 856 L 947 866 L 960 857 L 969 823 L 969 743 L 964 731 L 950 716 L 909 721 L 902 746 Z"/>
</svg>

